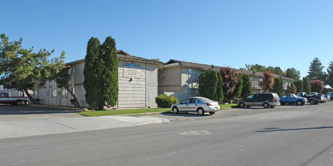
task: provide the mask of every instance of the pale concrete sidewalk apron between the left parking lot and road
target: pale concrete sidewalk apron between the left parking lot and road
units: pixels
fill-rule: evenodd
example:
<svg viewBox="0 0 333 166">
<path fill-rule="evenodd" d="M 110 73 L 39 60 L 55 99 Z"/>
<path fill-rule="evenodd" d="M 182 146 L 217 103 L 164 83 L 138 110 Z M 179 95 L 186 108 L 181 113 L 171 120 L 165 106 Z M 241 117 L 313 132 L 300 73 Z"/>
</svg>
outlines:
<svg viewBox="0 0 333 166">
<path fill-rule="evenodd" d="M 169 122 L 149 116 L 97 116 L 0 122 L 0 139 Z"/>
</svg>

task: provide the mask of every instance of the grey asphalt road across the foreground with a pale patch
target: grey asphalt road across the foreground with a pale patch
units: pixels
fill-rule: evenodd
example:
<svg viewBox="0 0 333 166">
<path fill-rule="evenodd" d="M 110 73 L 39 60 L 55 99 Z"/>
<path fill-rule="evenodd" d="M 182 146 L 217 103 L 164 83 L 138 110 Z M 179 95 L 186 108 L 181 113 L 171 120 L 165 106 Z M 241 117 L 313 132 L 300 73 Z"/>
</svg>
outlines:
<svg viewBox="0 0 333 166">
<path fill-rule="evenodd" d="M 1 139 L 0 165 L 332 165 L 332 104 Z"/>
</svg>

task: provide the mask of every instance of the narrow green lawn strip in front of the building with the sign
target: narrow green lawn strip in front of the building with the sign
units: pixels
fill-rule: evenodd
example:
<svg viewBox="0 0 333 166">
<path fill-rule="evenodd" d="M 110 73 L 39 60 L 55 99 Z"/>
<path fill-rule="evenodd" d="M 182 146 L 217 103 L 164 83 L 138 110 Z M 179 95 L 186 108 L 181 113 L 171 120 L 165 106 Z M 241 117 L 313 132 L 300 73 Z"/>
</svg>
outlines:
<svg viewBox="0 0 333 166">
<path fill-rule="evenodd" d="M 142 113 L 142 112 L 159 112 L 170 111 L 170 108 L 142 108 L 142 109 L 108 109 L 101 111 L 82 111 L 79 112 L 83 116 L 104 116 L 104 115 L 118 115 L 129 113 Z"/>
</svg>

